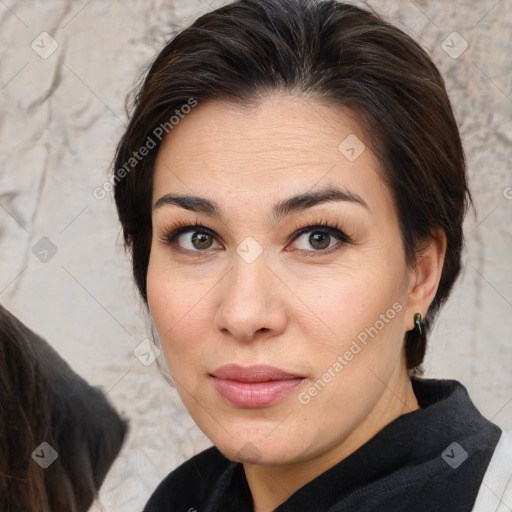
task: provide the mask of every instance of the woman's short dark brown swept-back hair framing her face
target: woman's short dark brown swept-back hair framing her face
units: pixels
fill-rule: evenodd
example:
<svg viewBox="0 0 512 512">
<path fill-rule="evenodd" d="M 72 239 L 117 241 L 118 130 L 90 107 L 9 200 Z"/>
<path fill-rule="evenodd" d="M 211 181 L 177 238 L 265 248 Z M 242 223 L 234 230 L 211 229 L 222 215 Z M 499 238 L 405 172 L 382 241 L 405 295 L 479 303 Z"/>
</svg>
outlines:
<svg viewBox="0 0 512 512">
<path fill-rule="evenodd" d="M 392 192 L 409 265 L 421 242 L 436 228 L 444 230 L 444 267 L 423 335 L 416 329 L 406 334 L 408 368 L 418 367 L 426 333 L 460 272 L 462 224 L 472 203 L 464 151 L 444 81 L 426 52 L 376 13 L 333 0 L 233 2 L 178 33 L 149 68 L 112 176 L 125 247 L 145 304 L 153 168 L 161 142 L 154 141 L 155 128 L 169 125 L 191 98 L 250 106 L 276 90 L 343 106 L 357 116 Z M 156 148 L 127 171 L 148 137 Z"/>
</svg>

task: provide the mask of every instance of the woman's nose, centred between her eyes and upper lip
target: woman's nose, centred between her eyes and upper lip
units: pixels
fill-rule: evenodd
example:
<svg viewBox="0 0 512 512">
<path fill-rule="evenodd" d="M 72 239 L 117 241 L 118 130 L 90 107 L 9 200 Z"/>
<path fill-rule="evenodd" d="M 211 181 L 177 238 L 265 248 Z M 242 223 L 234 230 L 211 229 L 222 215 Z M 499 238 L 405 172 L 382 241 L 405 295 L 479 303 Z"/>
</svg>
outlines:
<svg viewBox="0 0 512 512">
<path fill-rule="evenodd" d="M 217 328 L 239 341 L 273 337 L 286 329 L 285 286 L 264 254 L 251 263 L 236 254 L 222 282 Z"/>
</svg>

